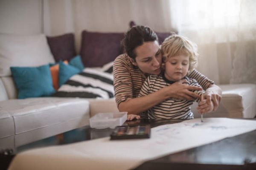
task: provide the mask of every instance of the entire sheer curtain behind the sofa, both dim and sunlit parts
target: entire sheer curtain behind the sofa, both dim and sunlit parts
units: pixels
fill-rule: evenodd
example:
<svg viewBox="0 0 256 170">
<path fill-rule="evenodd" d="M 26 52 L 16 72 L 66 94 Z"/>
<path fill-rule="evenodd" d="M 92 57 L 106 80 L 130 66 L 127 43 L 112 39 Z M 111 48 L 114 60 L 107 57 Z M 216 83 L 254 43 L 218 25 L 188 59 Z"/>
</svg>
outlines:
<svg viewBox="0 0 256 170">
<path fill-rule="evenodd" d="M 256 83 L 256 0 L 44 0 L 44 33 L 178 31 L 198 44 L 198 70 L 217 84 Z"/>
</svg>

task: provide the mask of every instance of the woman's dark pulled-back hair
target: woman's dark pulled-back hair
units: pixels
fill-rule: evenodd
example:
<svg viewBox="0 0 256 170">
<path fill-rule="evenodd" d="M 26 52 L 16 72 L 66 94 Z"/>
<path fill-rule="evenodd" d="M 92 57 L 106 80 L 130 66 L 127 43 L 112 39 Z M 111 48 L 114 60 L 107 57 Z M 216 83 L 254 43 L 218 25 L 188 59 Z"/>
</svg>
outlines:
<svg viewBox="0 0 256 170">
<path fill-rule="evenodd" d="M 135 59 L 136 53 L 134 49 L 143 42 L 158 41 L 157 34 L 147 26 L 133 26 L 126 33 L 125 38 L 122 40 L 122 45 L 129 57 Z"/>
</svg>

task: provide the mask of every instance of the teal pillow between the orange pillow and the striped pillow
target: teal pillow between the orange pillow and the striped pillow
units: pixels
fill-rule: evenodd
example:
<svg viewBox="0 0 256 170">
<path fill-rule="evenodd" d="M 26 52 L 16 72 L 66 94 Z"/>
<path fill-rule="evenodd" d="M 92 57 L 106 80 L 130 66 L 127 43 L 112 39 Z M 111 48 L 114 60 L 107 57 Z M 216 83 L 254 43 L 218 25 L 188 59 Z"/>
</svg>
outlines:
<svg viewBox="0 0 256 170">
<path fill-rule="evenodd" d="M 63 85 L 65 82 L 67 82 L 67 80 L 75 75 L 80 73 L 81 70 L 79 70 L 79 68 L 76 68 L 72 65 L 66 65 L 64 62 L 60 61 L 59 62 L 59 87 L 61 87 L 61 85 Z"/>
</svg>

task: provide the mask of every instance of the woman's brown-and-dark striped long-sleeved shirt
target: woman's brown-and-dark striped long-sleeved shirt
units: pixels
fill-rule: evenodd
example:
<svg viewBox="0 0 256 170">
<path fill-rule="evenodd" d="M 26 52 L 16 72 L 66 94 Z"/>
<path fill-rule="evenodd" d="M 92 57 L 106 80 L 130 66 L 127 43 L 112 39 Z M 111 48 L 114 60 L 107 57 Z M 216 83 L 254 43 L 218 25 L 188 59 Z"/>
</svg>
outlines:
<svg viewBox="0 0 256 170">
<path fill-rule="evenodd" d="M 113 64 L 113 74 L 117 106 L 120 102 L 124 102 L 129 98 L 136 98 L 147 77 L 147 75 L 140 71 L 140 68 L 131 63 L 127 54 L 121 54 L 116 57 Z M 213 81 L 209 80 L 197 70 L 192 71 L 188 77 L 195 79 L 204 90 L 214 84 Z"/>
</svg>

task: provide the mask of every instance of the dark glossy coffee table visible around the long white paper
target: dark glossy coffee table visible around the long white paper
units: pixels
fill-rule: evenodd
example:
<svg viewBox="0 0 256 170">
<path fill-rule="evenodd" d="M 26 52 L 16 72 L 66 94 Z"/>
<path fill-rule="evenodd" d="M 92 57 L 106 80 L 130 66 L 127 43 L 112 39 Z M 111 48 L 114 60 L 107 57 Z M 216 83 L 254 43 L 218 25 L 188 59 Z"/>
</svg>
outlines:
<svg viewBox="0 0 256 170">
<path fill-rule="evenodd" d="M 256 119 L 253 119 L 256 121 Z M 175 120 L 145 120 L 125 122 L 124 125 L 145 125 L 151 127 L 158 125 L 172 124 L 182 122 L 183 119 Z M 97 139 L 109 136 L 113 129 L 93 129 L 89 126 L 70 130 L 56 136 L 32 142 L 17 147 L 14 154 L 23 150 L 35 147 L 44 147 L 50 145 L 68 144 L 73 142 Z M 11 161 L 11 159 L 9 159 Z M 155 170 L 155 169 L 196 169 L 196 170 L 254 170 L 256 169 L 256 130 L 244 133 L 232 138 L 223 139 L 218 142 L 195 147 L 159 159 L 146 161 L 136 170 Z"/>
</svg>

